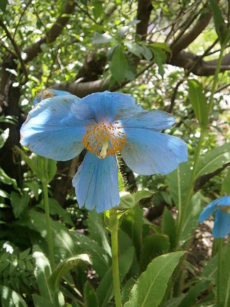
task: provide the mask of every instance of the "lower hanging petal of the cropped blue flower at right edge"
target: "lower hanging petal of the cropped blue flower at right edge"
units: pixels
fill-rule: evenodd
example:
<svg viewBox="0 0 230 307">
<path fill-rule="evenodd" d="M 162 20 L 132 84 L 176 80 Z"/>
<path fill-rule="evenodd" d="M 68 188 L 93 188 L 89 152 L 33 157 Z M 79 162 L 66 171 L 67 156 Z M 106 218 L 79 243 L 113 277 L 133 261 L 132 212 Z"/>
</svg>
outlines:
<svg viewBox="0 0 230 307">
<path fill-rule="evenodd" d="M 217 209 L 213 235 L 216 238 L 223 238 L 229 233 L 230 214 L 221 209 Z"/>
</svg>

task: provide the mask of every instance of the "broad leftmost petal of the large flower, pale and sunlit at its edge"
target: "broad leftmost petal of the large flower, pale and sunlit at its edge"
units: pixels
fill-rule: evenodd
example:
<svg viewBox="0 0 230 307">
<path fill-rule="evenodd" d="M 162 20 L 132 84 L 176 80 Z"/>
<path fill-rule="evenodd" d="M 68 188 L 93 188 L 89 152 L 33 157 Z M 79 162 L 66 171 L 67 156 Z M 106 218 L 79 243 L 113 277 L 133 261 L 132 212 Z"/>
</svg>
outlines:
<svg viewBox="0 0 230 307">
<path fill-rule="evenodd" d="M 54 160 L 66 161 L 79 155 L 84 148 L 81 140 L 86 123 L 71 112 L 77 99 L 74 95 L 56 96 L 36 104 L 21 127 L 20 143 Z"/>
</svg>

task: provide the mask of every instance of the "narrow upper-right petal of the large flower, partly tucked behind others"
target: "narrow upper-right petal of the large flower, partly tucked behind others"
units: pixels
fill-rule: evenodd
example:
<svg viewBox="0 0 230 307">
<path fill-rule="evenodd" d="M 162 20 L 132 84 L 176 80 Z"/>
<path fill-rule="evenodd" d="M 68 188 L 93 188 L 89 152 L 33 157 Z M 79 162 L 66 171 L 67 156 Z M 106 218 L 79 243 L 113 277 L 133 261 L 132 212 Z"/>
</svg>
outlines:
<svg viewBox="0 0 230 307">
<path fill-rule="evenodd" d="M 127 128 L 149 128 L 155 131 L 171 128 L 174 123 L 175 118 L 171 114 L 156 109 L 143 110 L 122 120 L 122 124 Z"/>
</svg>

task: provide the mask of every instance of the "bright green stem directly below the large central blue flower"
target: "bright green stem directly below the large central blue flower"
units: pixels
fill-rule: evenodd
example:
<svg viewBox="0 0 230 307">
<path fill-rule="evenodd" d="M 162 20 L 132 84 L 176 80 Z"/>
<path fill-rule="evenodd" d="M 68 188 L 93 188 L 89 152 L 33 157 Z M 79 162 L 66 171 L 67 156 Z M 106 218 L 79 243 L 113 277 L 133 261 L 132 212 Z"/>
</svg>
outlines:
<svg viewBox="0 0 230 307">
<path fill-rule="evenodd" d="M 112 248 L 112 279 L 116 307 L 122 307 L 121 288 L 118 266 L 118 229 L 111 230 L 111 248 Z"/>
</svg>

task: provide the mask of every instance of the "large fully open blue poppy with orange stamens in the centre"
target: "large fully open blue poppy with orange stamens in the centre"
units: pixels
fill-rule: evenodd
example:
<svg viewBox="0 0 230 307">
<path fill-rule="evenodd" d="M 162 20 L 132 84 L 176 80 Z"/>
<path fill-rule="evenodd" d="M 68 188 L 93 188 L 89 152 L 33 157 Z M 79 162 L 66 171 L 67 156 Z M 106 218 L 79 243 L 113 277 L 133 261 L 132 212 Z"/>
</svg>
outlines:
<svg viewBox="0 0 230 307">
<path fill-rule="evenodd" d="M 188 160 L 187 144 L 160 132 L 174 122 L 166 112 L 143 110 L 131 95 L 66 95 L 45 99 L 32 109 L 21 127 L 20 143 L 58 161 L 86 148 L 73 186 L 80 208 L 102 212 L 120 204 L 117 152 L 143 175 L 167 174 Z"/>
</svg>

